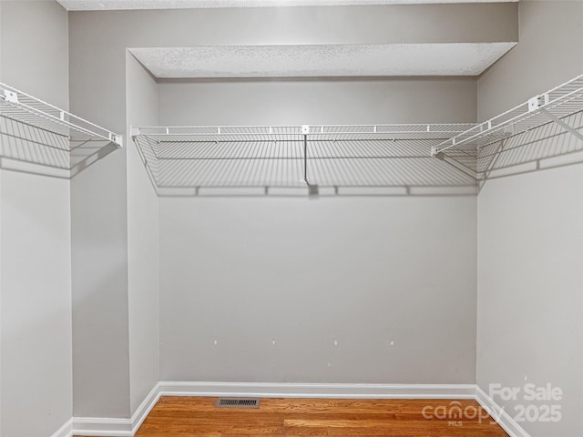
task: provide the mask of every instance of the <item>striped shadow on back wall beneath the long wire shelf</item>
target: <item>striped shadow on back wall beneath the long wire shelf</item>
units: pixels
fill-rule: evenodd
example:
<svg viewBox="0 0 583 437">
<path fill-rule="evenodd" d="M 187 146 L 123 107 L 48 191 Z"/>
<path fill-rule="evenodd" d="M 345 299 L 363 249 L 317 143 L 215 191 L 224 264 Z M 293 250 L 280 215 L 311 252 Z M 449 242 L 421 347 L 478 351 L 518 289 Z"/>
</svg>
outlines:
<svg viewBox="0 0 583 437">
<path fill-rule="evenodd" d="M 476 195 L 469 168 L 431 157 L 439 139 L 134 141 L 166 197 Z"/>
</svg>

